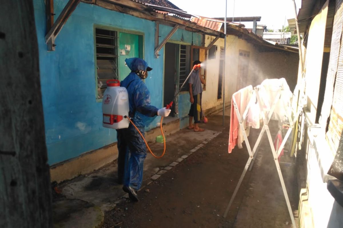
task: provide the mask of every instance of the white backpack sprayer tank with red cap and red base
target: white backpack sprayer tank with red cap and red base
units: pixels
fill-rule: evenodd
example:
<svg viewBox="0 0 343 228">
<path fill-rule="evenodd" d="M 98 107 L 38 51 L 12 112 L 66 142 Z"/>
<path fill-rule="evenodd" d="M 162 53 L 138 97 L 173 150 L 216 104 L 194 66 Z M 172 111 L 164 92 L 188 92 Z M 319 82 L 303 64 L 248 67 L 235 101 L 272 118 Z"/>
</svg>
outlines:
<svg viewBox="0 0 343 228">
<path fill-rule="evenodd" d="M 103 126 L 122 129 L 129 127 L 129 95 L 125 87 L 120 87 L 119 80 L 108 80 L 103 97 Z"/>
</svg>

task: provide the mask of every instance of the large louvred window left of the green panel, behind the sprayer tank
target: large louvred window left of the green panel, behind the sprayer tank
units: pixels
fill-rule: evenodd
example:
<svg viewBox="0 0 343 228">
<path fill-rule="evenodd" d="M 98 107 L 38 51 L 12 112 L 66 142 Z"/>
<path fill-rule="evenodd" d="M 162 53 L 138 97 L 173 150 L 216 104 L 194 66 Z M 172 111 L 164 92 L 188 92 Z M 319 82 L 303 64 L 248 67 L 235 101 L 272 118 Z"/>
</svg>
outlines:
<svg viewBox="0 0 343 228">
<path fill-rule="evenodd" d="M 116 31 L 95 29 L 97 98 L 102 99 L 106 81 L 118 79 L 118 36 Z"/>
</svg>

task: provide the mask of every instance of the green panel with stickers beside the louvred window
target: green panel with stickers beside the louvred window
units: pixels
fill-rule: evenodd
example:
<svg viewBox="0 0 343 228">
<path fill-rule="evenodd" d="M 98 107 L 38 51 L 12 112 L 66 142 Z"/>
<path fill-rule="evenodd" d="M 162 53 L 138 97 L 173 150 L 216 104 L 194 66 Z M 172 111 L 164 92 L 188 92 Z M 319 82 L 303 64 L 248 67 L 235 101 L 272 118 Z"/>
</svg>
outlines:
<svg viewBox="0 0 343 228">
<path fill-rule="evenodd" d="M 140 53 L 142 53 L 142 45 L 140 45 L 141 40 L 142 36 L 140 35 L 119 32 L 118 73 L 120 81 L 126 78 L 126 76 L 128 76 L 131 72 L 129 67 L 125 65 L 125 59 L 133 57 L 143 57 L 140 55 Z"/>
</svg>

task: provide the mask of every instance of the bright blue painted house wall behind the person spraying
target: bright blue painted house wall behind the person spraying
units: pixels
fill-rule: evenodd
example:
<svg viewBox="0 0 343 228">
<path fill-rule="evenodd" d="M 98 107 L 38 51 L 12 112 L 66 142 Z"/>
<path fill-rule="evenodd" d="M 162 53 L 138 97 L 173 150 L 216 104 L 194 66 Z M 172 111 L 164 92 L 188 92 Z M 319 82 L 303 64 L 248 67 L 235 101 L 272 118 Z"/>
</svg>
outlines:
<svg viewBox="0 0 343 228">
<path fill-rule="evenodd" d="M 57 18 L 68 1 L 54 2 Z M 154 58 L 154 22 L 81 2 L 56 38 L 56 51 L 47 52 L 44 0 L 34 0 L 34 10 L 49 164 L 117 141 L 115 130 L 103 128 L 102 103 L 96 101 L 94 25 L 144 33 L 144 58 L 153 68 L 145 83 L 152 105 L 162 106 L 164 49 L 159 58 Z M 170 30 L 160 26 L 161 39 Z M 184 42 L 191 44 L 192 32 L 185 30 L 179 29 L 171 40 L 180 41 L 182 35 Z M 201 35 L 193 33 L 193 44 L 201 45 Z M 179 117 L 187 116 L 188 100 L 189 95 L 180 95 Z M 159 118 L 146 130 L 157 126 L 157 122 Z"/>
</svg>

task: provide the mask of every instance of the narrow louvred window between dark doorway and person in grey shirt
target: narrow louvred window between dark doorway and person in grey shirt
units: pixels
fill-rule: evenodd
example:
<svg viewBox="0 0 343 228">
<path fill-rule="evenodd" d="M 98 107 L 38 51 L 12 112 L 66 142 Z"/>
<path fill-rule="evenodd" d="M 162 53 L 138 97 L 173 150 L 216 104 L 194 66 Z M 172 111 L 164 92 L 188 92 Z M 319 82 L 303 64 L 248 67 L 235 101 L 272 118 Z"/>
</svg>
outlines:
<svg viewBox="0 0 343 228">
<path fill-rule="evenodd" d="M 190 72 L 190 50 L 190 45 L 180 45 L 179 88 Z M 181 91 L 188 91 L 188 85 L 184 85 Z"/>
</svg>

